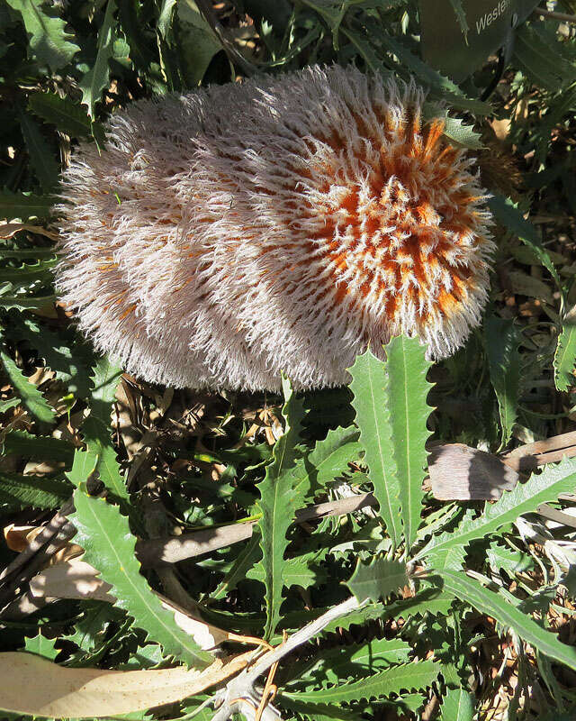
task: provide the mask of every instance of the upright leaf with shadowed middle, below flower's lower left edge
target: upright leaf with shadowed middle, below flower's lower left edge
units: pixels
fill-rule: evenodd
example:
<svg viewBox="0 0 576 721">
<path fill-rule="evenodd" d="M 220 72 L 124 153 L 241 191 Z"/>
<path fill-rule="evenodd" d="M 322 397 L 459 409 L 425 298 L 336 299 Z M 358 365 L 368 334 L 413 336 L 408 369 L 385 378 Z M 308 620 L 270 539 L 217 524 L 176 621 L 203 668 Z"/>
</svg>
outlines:
<svg viewBox="0 0 576 721">
<path fill-rule="evenodd" d="M 119 498 L 128 498 L 128 490 L 121 477 L 120 466 L 110 434 L 110 416 L 121 368 L 104 357 L 94 366 L 94 390 L 90 400 L 90 415 L 82 426 L 88 451 L 98 456 L 96 470 L 104 486 Z"/>
</svg>

